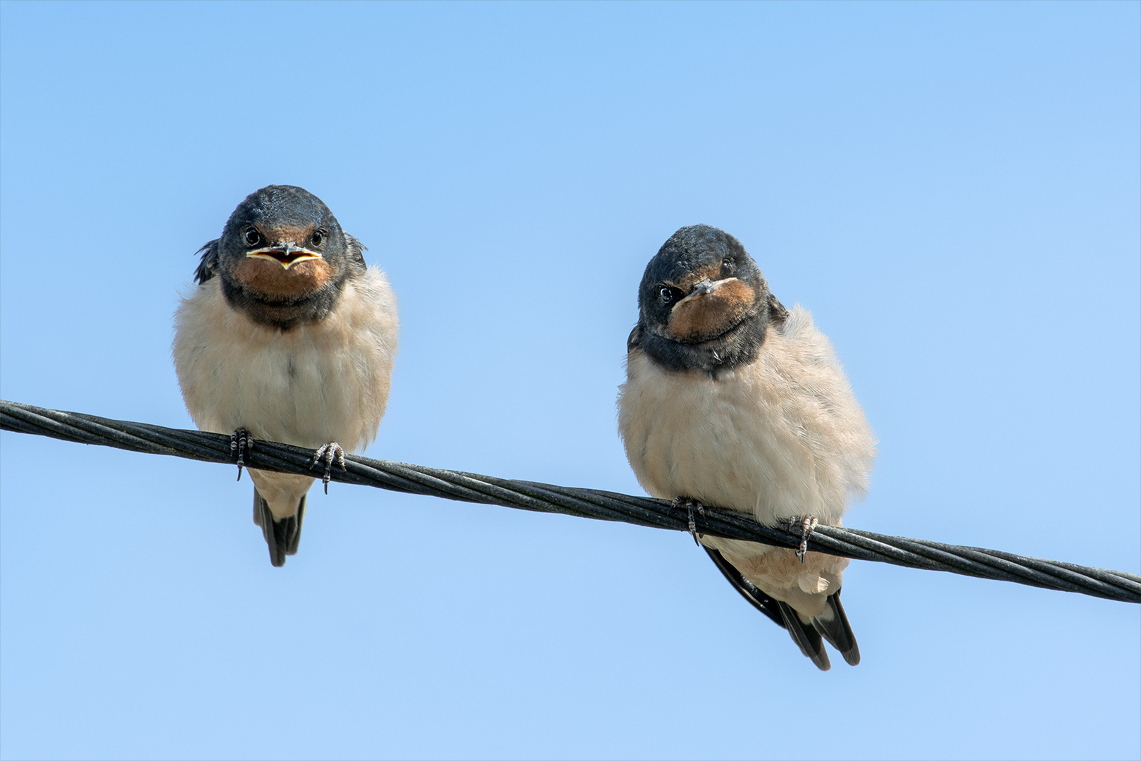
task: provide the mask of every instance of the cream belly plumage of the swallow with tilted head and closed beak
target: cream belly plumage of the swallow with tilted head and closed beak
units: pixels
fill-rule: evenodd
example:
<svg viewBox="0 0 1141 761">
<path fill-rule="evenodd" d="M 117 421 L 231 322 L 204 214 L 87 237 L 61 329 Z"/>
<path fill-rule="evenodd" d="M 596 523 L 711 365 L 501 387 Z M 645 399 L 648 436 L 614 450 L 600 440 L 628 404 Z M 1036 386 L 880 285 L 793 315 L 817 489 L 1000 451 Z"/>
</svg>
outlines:
<svg viewBox="0 0 1141 761">
<path fill-rule="evenodd" d="M 713 379 L 630 353 L 618 430 L 639 483 L 774 526 L 793 516 L 840 525 L 867 489 L 875 438 L 828 339 L 795 306 L 755 362 Z M 848 560 L 705 536 L 756 586 L 804 616 L 824 610 Z"/>
</svg>

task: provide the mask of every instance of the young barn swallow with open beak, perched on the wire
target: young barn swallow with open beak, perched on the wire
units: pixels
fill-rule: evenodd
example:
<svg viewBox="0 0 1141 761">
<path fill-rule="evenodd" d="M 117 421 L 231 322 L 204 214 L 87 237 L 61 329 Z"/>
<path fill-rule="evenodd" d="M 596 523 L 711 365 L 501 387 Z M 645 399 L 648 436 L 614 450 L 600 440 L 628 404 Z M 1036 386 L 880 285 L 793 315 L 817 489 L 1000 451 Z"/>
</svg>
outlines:
<svg viewBox="0 0 1141 761">
<path fill-rule="evenodd" d="M 270 185 L 199 253 L 197 288 L 175 315 L 175 370 L 201 430 L 230 434 L 242 477 L 254 439 L 315 450 L 325 491 L 345 447 L 377 437 L 398 327 L 385 273 L 308 191 Z M 297 552 L 314 478 L 250 468 L 253 523 L 269 560 Z"/>
</svg>

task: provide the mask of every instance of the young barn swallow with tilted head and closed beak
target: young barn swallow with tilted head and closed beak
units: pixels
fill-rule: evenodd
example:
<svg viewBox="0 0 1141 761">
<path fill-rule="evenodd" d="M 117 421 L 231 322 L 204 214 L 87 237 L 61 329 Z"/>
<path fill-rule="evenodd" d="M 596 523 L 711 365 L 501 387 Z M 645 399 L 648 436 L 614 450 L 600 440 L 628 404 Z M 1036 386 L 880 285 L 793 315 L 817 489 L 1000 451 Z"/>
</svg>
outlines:
<svg viewBox="0 0 1141 761">
<path fill-rule="evenodd" d="M 695 225 L 650 259 L 626 342 L 618 430 L 647 492 L 689 510 L 690 529 L 738 592 L 822 671 L 827 640 L 859 648 L 840 604 L 845 558 L 803 552 L 867 491 L 875 437 L 828 339 L 786 309 L 737 238 Z M 795 527 L 801 551 L 698 536 L 693 510 Z"/>
</svg>

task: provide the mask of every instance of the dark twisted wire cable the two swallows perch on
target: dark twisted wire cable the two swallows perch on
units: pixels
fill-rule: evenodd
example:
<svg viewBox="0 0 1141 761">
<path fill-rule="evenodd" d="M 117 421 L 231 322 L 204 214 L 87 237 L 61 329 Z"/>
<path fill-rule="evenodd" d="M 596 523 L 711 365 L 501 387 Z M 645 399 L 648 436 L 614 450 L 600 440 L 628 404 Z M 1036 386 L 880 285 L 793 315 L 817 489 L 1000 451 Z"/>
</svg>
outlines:
<svg viewBox="0 0 1141 761">
<path fill-rule="evenodd" d="M 234 464 L 228 436 L 46 410 L 16 402 L 0 400 L 0 429 L 131 452 Z M 318 475 L 311 463 L 313 452 L 309 450 L 260 439 L 245 454 L 245 464 L 249 467 L 285 473 Z M 333 469 L 333 480 L 463 502 L 618 520 L 653 528 L 685 532 L 689 526 L 687 511 L 665 500 L 495 478 L 356 455 L 346 456 L 345 464 L 345 471 Z M 785 548 L 796 548 L 801 540 L 799 532 L 762 526 L 744 513 L 712 507 L 706 508 L 704 520 L 698 520 L 698 527 L 703 534 Z M 885 536 L 839 526 L 818 526 L 809 537 L 808 549 L 857 560 L 1010 581 L 1123 602 L 1141 602 L 1141 576 L 1136 574 L 1027 558 L 997 550 Z"/>
</svg>

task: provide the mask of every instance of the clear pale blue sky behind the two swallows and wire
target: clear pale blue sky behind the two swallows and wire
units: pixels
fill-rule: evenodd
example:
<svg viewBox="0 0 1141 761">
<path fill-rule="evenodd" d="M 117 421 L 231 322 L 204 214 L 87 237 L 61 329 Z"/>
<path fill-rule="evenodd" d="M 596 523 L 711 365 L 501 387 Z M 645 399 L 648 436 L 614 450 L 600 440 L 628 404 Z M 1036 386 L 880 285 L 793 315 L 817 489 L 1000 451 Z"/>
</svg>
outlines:
<svg viewBox="0 0 1141 761">
<path fill-rule="evenodd" d="M 641 494 L 647 260 L 738 236 L 880 438 L 850 526 L 1141 570 L 1141 6 L 0 6 L 0 392 L 192 427 L 195 250 L 321 196 L 403 327 L 367 454 Z M 3 434 L 0 755 L 1138 758 L 1138 606 L 853 562 L 818 672 L 689 536 Z"/>
</svg>

